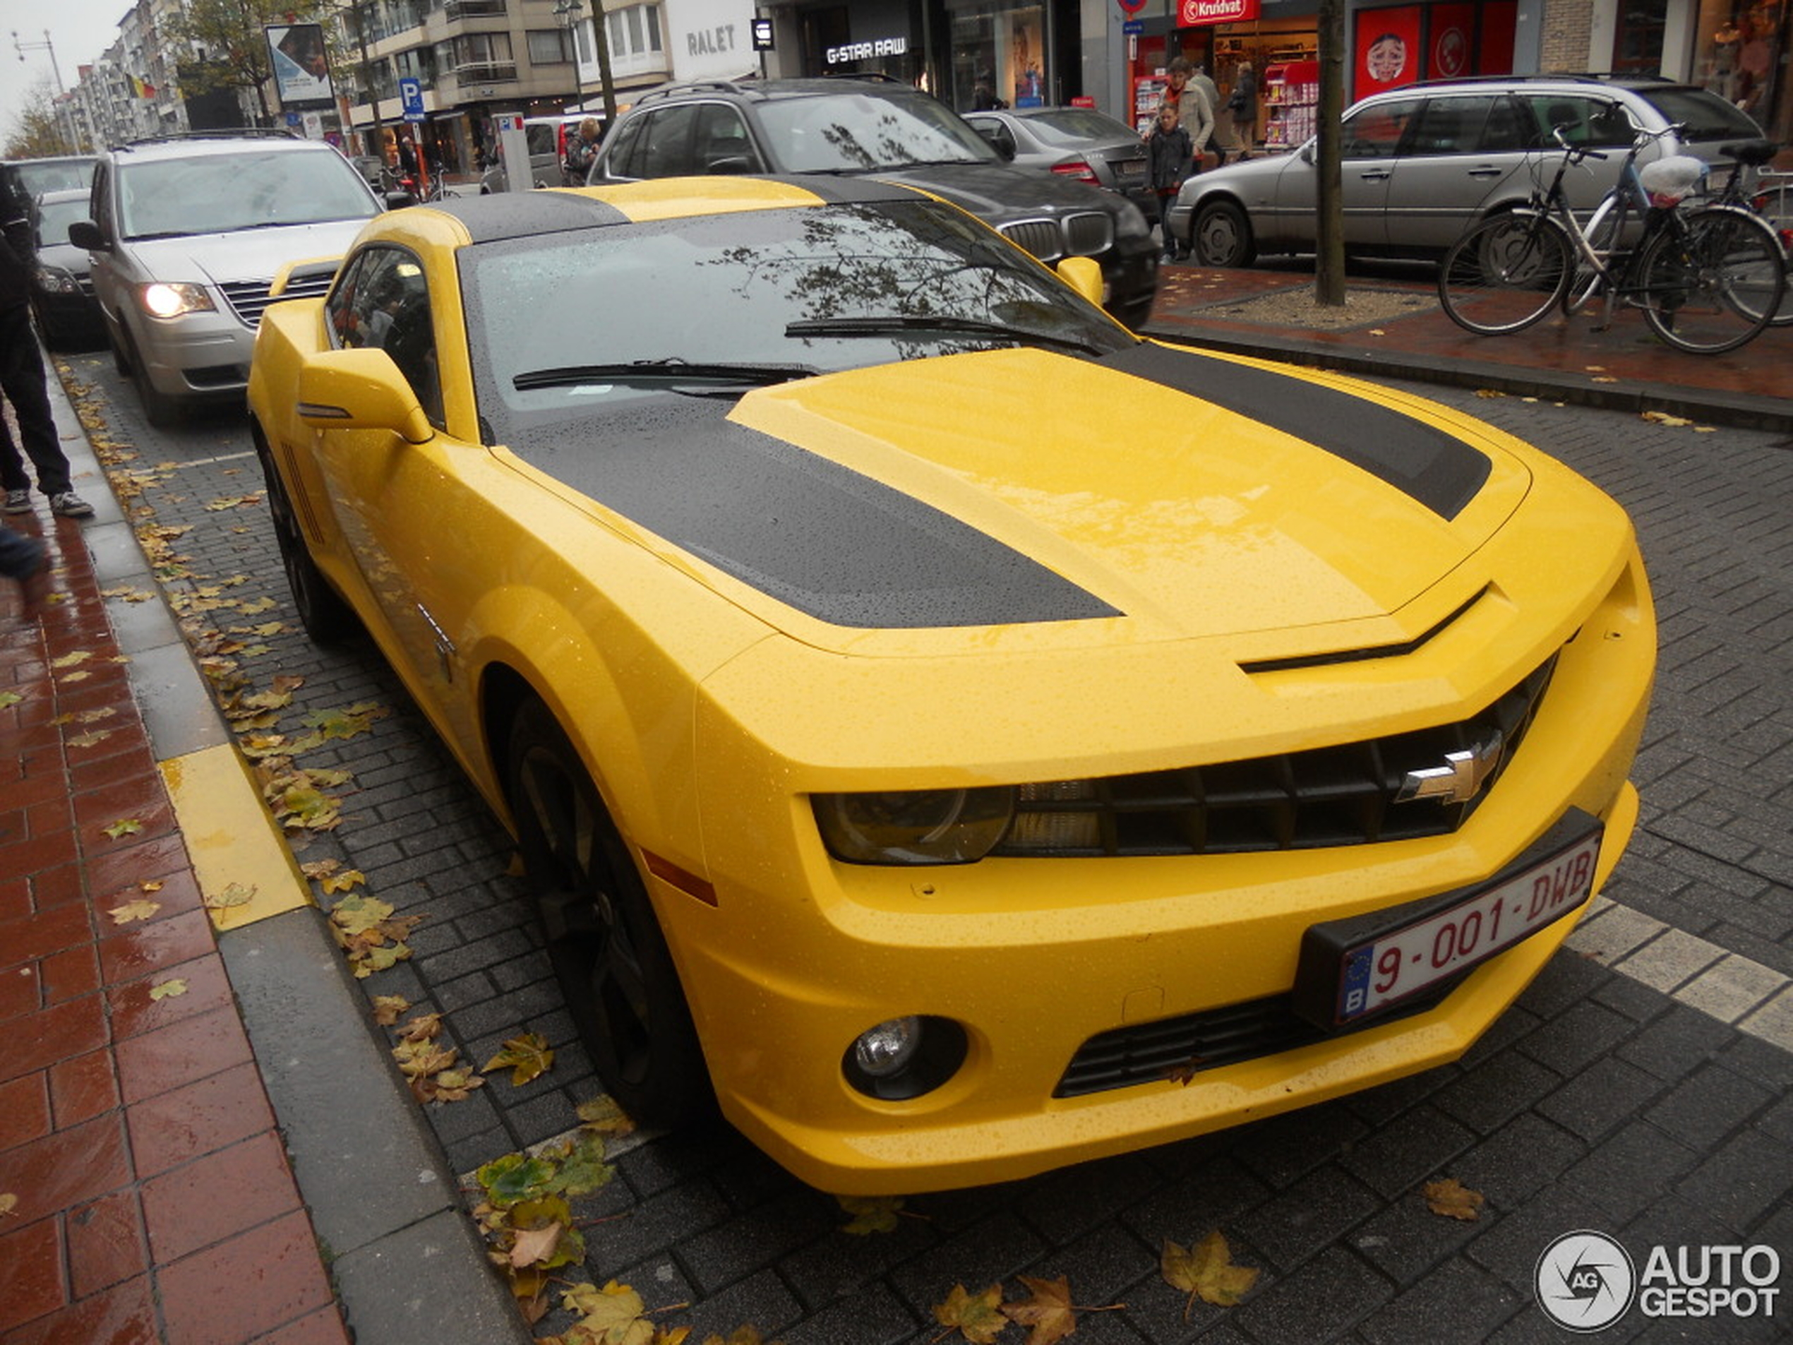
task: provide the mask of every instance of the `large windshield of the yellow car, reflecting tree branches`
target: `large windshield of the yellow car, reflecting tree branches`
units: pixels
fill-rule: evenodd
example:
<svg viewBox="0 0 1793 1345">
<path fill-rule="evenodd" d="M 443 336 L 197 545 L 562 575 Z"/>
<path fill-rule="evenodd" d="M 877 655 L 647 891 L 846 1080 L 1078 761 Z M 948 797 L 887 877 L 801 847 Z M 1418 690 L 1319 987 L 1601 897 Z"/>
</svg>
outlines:
<svg viewBox="0 0 1793 1345">
<path fill-rule="evenodd" d="M 1135 337 L 936 201 L 751 210 L 466 247 L 479 411 L 493 438 L 644 398 L 735 396 L 868 364 Z"/>
</svg>

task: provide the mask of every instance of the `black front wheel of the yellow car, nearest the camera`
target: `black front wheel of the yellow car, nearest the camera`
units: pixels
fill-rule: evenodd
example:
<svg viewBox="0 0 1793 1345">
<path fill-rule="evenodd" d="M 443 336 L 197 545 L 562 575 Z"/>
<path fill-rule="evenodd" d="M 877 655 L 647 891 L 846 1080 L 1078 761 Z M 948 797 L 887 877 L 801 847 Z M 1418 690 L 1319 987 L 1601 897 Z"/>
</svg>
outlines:
<svg viewBox="0 0 1793 1345">
<path fill-rule="evenodd" d="M 610 1096 L 649 1126 L 708 1119 L 703 1047 L 653 902 L 541 701 L 516 712 L 504 782 L 549 959 Z"/>
</svg>

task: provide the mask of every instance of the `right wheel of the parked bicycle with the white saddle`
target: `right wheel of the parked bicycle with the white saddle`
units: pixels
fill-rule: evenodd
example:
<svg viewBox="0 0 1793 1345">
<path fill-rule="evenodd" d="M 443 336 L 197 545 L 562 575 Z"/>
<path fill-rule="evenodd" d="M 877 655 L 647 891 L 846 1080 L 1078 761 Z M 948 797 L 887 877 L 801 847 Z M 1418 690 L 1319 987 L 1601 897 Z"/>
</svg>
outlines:
<svg viewBox="0 0 1793 1345">
<path fill-rule="evenodd" d="M 1752 341 L 1786 294 L 1780 242 L 1757 215 L 1707 206 L 1667 221 L 1637 258 L 1632 303 L 1678 350 L 1719 355 Z"/>
</svg>

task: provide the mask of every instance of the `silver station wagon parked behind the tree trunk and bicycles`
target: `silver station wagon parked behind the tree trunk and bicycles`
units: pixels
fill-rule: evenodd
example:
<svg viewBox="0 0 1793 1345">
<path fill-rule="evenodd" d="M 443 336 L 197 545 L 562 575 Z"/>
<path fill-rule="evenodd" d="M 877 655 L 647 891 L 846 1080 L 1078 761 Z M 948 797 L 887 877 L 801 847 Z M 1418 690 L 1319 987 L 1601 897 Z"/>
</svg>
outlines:
<svg viewBox="0 0 1793 1345">
<path fill-rule="evenodd" d="M 1563 187 L 1592 210 L 1617 181 L 1633 127 L 1684 124 L 1639 156 L 1719 158 L 1761 127 L 1709 90 L 1650 77 L 1485 75 L 1377 93 L 1343 118 L 1339 179 L 1345 249 L 1357 256 L 1438 256 L 1483 215 L 1524 204 L 1555 169 L 1551 136 L 1612 151 Z M 1250 265 L 1259 253 L 1309 253 L 1318 221 L 1316 143 L 1248 160 L 1183 183 L 1173 239 L 1200 265 Z M 1547 176 L 1544 178 L 1547 181 Z"/>
</svg>

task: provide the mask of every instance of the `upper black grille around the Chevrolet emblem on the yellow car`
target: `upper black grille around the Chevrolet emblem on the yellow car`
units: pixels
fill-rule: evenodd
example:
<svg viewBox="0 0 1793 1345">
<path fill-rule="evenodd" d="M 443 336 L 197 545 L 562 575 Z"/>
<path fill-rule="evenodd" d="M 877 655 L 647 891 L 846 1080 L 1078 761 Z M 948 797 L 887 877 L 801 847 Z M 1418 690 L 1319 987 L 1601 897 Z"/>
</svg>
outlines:
<svg viewBox="0 0 1793 1345">
<path fill-rule="evenodd" d="M 1555 667 L 1553 656 L 1454 725 L 1217 766 L 1029 785 L 1018 791 L 1015 823 L 993 854 L 1216 855 L 1447 836 L 1519 751 Z M 1470 800 L 1397 802 L 1409 771 L 1440 768 L 1447 753 L 1495 733 L 1501 760 Z"/>
</svg>

